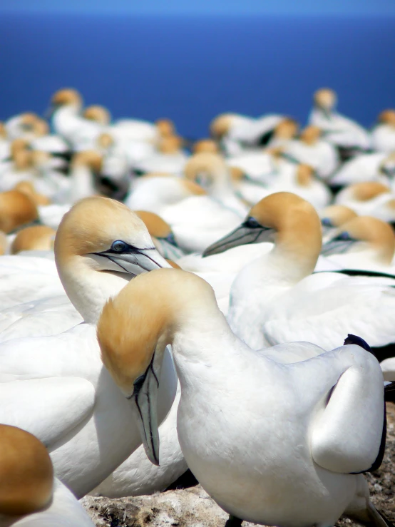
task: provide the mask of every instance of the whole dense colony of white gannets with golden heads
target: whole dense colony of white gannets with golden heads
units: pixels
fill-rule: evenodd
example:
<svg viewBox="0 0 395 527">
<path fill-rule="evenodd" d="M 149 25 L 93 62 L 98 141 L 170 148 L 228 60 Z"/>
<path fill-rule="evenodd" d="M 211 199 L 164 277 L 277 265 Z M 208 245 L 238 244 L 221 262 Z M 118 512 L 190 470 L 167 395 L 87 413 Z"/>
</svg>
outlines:
<svg viewBox="0 0 395 527">
<path fill-rule="evenodd" d="M 192 141 L 66 88 L 50 123 L 0 123 L 1 526 L 93 526 L 78 499 L 187 469 L 227 527 L 392 525 L 364 473 L 395 381 L 395 110 L 336 107 Z"/>
</svg>

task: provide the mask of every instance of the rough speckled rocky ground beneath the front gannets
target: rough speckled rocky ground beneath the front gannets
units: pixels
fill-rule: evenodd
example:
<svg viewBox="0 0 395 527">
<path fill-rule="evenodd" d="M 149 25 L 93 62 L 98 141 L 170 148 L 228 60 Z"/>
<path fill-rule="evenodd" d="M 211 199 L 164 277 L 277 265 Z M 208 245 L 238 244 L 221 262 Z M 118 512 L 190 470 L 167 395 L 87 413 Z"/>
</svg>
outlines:
<svg viewBox="0 0 395 527">
<path fill-rule="evenodd" d="M 387 420 L 384 462 L 378 471 L 366 477 L 373 503 L 389 520 L 395 521 L 395 404 L 387 404 Z M 97 527 L 223 527 L 227 520 L 227 514 L 200 485 L 138 498 L 86 496 L 82 502 Z M 243 523 L 244 527 L 253 525 Z M 339 527 L 354 525 L 346 518 L 337 523 Z"/>
</svg>

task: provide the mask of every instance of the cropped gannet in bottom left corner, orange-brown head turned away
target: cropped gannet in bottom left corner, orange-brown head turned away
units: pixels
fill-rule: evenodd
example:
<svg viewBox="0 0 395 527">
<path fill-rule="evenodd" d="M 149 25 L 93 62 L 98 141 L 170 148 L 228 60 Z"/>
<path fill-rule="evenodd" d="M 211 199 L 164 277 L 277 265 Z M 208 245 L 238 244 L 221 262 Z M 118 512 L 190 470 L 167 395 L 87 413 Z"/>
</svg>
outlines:
<svg viewBox="0 0 395 527">
<path fill-rule="evenodd" d="M 29 432 L 0 424 L 2 527 L 93 527 L 71 491 L 53 478 L 45 446 Z"/>
</svg>

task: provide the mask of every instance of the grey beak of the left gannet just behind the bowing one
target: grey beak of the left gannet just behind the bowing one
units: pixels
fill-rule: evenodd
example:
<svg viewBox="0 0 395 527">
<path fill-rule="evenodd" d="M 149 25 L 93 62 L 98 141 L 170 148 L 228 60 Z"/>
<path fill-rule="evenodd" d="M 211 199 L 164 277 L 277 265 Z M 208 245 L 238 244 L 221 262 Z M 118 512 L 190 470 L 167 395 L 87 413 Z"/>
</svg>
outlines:
<svg viewBox="0 0 395 527">
<path fill-rule="evenodd" d="M 170 267 L 165 258 L 160 256 L 155 247 L 148 249 L 134 249 L 130 252 L 96 252 L 91 257 L 96 257 L 102 270 L 126 272 L 130 275 L 140 275 L 145 271 L 153 271 L 161 267 Z"/>
</svg>

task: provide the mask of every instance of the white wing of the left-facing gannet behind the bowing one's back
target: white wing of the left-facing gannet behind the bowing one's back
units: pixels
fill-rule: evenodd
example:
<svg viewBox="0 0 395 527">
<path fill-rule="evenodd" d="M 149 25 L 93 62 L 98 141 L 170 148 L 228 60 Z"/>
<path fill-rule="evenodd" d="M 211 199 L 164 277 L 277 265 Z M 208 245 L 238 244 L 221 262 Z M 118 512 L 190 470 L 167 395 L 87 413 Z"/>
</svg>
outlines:
<svg viewBox="0 0 395 527">
<path fill-rule="evenodd" d="M 312 275 L 277 297 L 263 326 L 267 341 L 307 341 L 329 350 L 352 333 L 371 347 L 395 342 L 395 281 L 334 275 Z"/>
</svg>

